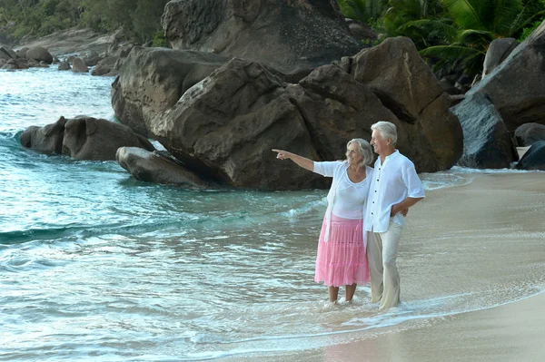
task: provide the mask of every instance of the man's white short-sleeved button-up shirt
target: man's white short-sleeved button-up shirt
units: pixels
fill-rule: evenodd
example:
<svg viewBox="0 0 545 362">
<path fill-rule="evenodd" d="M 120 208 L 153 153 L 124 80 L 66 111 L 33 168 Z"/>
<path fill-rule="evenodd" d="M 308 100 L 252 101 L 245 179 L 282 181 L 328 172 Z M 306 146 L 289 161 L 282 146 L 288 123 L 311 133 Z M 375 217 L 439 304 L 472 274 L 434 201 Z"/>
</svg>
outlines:
<svg viewBox="0 0 545 362">
<path fill-rule="evenodd" d="M 374 166 L 364 227 L 366 231 L 386 232 L 390 224 L 391 206 L 408 197 L 423 198 L 424 188 L 414 164 L 397 150 L 383 163 L 379 157 Z M 405 224 L 401 212 L 395 214 L 393 222 L 401 226 Z"/>
</svg>

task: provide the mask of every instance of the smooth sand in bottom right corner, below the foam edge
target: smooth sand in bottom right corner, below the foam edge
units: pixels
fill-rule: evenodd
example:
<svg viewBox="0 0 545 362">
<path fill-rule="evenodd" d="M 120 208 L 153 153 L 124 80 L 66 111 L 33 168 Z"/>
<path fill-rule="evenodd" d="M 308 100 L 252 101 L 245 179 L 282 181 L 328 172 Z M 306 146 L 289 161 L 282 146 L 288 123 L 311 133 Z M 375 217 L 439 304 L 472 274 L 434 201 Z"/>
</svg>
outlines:
<svg viewBox="0 0 545 362">
<path fill-rule="evenodd" d="M 435 318 L 428 327 L 391 331 L 372 339 L 262 360 L 537 362 L 545 356 L 541 337 L 545 326 L 543 305 L 545 290 L 497 307 Z"/>
</svg>

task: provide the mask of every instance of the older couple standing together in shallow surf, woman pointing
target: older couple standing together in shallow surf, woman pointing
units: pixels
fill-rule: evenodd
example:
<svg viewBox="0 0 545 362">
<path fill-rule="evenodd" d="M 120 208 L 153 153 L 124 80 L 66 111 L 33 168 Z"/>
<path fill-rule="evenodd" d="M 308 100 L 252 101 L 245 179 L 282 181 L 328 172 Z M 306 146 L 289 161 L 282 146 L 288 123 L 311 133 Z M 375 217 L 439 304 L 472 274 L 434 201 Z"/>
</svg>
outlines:
<svg viewBox="0 0 545 362">
<path fill-rule="evenodd" d="M 407 210 L 424 198 L 414 164 L 395 149 L 397 130 L 391 122 L 371 127 L 371 144 L 356 138 L 346 146 L 346 161 L 312 161 L 282 150 L 277 158 L 332 177 L 328 207 L 318 243 L 315 281 L 329 289 L 336 302 L 339 287 L 352 301 L 358 284 L 371 277 L 372 303 L 380 309 L 400 302 L 397 250 Z M 379 157 L 374 169 L 372 148 Z"/>
</svg>

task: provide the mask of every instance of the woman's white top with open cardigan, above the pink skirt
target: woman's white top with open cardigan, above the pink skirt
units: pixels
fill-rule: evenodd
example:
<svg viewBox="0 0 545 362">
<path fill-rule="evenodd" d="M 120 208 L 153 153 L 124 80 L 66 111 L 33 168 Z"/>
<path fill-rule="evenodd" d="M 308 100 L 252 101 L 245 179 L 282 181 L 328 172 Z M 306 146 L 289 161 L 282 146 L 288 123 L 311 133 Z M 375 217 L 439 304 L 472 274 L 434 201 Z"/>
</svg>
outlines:
<svg viewBox="0 0 545 362">
<path fill-rule="evenodd" d="M 366 177 L 362 182 L 352 182 L 348 178 L 347 161 L 314 161 L 314 172 L 325 177 L 332 177 L 332 188 L 327 194 L 328 206 L 325 211 L 326 230 L 324 241 L 329 240 L 329 231 L 331 227 L 332 213 L 345 219 L 362 219 L 366 209 L 367 195 L 369 194 L 369 185 L 372 180 L 372 168 L 365 166 Z M 346 193 L 344 191 L 347 191 Z M 352 194 L 352 200 L 346 198 Z M 355 197 L 355 195 L 358 195 Z M 363 229 L 363 228 L 362 228 Z M 363 243 L 367 245 L 367 233 L 363 232 Z"/>
</svg>

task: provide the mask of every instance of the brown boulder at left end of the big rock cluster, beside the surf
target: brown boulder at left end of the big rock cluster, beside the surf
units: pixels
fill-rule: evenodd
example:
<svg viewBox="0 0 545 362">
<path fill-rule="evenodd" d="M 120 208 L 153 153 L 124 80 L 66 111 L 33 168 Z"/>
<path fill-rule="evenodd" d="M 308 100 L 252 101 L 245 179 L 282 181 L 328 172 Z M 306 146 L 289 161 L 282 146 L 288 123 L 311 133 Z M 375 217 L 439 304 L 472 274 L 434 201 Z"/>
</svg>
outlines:
<svg viewBox="0 0 545 362">
<path fill-rule="evenodd" d="M 134 47 L 112 86 L 112 106 L 120 122 L 148 135 L 158 113 L 227 61 L 221 55 L 165 48 Z"/>
</svg>

